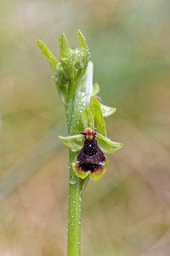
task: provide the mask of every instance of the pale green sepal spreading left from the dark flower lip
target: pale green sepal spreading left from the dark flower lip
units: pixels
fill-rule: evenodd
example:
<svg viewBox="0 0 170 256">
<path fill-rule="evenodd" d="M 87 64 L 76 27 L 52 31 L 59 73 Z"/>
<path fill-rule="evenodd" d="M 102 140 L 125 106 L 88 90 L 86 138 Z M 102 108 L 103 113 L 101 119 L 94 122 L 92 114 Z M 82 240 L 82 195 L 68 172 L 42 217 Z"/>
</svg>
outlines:
<svg viewBox="0 0 170 256">
<path fill-rule="evenodd" d="M 69 136 L 69 137 L 59 136 L 59 139 L 61 140 L 62 143 L 65 143 L 67 147 L 71 148 L 72 151 L 80 150 L 84 142 L 82 134 Z"/>
</svg>

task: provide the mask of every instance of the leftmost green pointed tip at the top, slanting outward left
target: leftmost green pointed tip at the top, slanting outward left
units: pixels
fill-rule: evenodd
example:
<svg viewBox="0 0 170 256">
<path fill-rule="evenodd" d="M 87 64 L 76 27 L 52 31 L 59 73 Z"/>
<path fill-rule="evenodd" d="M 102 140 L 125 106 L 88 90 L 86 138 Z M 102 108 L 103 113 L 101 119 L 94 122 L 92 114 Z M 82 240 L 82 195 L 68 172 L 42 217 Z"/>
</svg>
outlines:
<svg viewBox="0 0 170 256">
<path fill-rule="evenodd" d="M 37 46 L 39 47 L 39 49 L 42 50 L 42 54 L 46 57 L 52 71 L 54 72 L 54 70 L 55 70 L 55 68 L 57 67 L 57 64 L 58 64 L 57 59 L 52 54 L 50 49 L 48 49 L 48 47 L 45 44 L 42 43 L 41 40 L 37 40 Z"/>
</svg>

